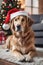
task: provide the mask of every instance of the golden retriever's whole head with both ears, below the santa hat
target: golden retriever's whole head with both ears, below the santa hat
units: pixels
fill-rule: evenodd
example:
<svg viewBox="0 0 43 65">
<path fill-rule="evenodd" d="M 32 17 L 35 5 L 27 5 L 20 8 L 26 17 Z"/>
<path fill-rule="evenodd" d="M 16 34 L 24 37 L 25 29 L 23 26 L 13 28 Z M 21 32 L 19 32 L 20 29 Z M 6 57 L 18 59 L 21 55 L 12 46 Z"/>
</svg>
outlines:
<svg viewBox="0 0 43 65">
<path fill-rule="evenodd" d="M 17 16 L 11 21 L 11 30 L 15 32 L 24 32 L 32 25 L 33 21 L 26 16 Z"/>
</svg>

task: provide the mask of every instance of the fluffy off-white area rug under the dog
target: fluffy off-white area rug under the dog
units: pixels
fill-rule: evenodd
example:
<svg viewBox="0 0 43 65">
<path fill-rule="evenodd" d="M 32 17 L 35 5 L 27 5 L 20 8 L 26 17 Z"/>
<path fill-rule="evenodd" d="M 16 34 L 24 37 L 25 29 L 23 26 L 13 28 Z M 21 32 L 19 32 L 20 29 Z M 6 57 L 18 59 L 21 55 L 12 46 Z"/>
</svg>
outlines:
<svg viewBox="0 0 43 65">
<path fill-rule="evenodd" d="M 41 49 L 39 49 L 39 51 L 41 51 Z M 20 65 L 43 65 L 43 57 L 41 56 L 35 57 L 33 62 L 17 62 L 16 58 L 13 56 L 11 51 L 7 51 L 7 49 L 2 49 L 2 48 L 0 49 L 0 59 L 4 59 Z"/>
</svg>

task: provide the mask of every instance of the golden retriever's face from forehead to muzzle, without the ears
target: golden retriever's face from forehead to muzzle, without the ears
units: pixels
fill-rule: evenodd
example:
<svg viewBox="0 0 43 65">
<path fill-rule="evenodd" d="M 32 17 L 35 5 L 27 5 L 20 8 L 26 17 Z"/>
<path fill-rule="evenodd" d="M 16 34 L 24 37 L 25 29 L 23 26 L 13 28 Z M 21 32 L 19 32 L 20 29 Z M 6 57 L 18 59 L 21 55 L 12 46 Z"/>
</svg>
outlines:
<svg viewBox="0 0 43 65">
<path fill-rule="evenodd" d="M 17 16 L 14 20 L 15 31 L 24 31 L 26 26 L 26 17 Z"/>
</svg>

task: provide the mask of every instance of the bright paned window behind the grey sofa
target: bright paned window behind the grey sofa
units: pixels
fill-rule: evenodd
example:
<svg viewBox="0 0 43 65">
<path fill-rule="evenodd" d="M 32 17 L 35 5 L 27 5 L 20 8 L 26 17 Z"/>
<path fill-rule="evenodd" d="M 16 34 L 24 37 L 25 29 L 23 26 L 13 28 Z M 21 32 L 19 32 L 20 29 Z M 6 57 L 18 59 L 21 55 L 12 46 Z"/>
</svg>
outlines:
<svg viewBox="0 0 43 65">
<path fill-rule="evenodd" d="M 39 14 L 39 0 L 25 0 L 25 10 L 30 14 Z"/>
</svg>

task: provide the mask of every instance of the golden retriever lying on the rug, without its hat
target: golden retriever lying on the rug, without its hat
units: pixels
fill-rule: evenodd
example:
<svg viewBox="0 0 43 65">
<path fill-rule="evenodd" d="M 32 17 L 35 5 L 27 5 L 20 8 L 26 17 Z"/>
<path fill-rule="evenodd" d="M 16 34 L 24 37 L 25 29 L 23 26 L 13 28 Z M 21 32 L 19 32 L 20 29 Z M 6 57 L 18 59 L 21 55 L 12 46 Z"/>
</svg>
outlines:
<svg viewBox="0 0 43 65">
<path fill-rule="evenodd" d="M 26 16 L 16 16 L 10 22 L 12 35 L 6 40 L 6 47 L 13 52 L 17 61 L 30 61 L 36 56 L 33 20 Z"/>
</svg>

